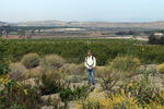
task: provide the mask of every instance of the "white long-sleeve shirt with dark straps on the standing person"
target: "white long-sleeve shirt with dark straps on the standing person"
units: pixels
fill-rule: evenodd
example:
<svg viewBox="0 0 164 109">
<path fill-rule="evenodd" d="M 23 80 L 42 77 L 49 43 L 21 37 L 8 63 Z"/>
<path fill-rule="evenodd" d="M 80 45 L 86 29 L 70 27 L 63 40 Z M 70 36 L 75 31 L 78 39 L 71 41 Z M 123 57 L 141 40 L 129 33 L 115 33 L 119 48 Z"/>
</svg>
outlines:
<svg viewBox="0 0 164 109">
<path fill-rule="evenodd" d="M 85 66 L 87 69 L 92 69 L 95 65 L 96 65 L 96 59 L 93 56 L 85 58 Z"/>
</svg>

